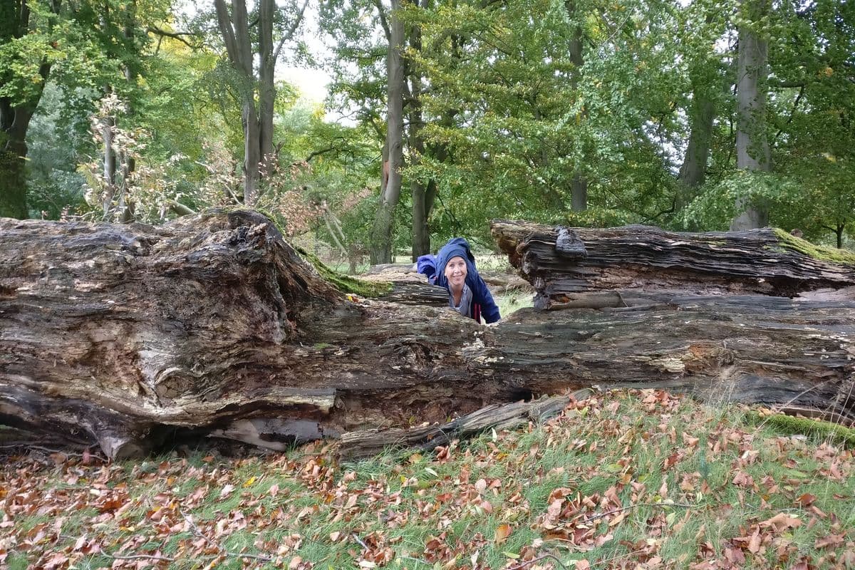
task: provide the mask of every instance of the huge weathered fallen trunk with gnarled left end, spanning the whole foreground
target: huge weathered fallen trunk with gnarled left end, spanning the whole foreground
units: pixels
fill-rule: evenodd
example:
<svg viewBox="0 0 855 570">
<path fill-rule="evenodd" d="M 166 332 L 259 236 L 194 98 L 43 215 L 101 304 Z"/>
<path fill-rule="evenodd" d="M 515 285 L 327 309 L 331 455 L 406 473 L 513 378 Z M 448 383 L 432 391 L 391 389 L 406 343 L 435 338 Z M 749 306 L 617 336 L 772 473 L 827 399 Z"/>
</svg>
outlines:
<svg viewBox="0 0 855 570">
<path fill-rule="evenodd" d="M 251 211 L 0 220 L 0 422 L 119 457 L 176 432 L 277 448 L 592 385 L 855 418 L 851 301 L 601 297 L 485 328 L 354 302 Z"/>
</svg>

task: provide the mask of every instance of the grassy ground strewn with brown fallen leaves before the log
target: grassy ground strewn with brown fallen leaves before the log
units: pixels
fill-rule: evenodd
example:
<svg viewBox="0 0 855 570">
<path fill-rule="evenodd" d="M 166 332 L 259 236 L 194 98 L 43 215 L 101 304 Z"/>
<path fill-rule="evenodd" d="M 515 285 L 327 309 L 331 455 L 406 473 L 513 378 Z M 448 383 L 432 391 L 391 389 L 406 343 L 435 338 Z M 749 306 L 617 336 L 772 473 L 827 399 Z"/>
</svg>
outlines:
<svg viewBox="0 0 855 570">
<path fill-rule="evenodd" d="M 322 443 L 112 464 L 33 450 L 0 468 L 0 566 L 853 567 L 852 450 L 753 414 L 614 391 L 358 462 Z"/>
</svg>

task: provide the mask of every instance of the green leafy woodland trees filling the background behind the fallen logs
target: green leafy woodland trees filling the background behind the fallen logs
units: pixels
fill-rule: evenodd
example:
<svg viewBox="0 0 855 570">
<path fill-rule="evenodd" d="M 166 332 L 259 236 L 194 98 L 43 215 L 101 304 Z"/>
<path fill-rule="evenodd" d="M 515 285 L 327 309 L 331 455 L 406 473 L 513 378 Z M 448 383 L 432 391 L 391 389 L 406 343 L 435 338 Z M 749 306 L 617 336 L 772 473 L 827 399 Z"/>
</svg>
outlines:
<svg viewBox="0 0 855 570">
<path fill-rule="evenodd" d="M 277 69 L 333 79 L 312 103 Z M 248 205 L 351 261 L 487 221 L 798 228 L 855 206 L 838 0 L 12 0 L 0 215 Z"/>
</svg>

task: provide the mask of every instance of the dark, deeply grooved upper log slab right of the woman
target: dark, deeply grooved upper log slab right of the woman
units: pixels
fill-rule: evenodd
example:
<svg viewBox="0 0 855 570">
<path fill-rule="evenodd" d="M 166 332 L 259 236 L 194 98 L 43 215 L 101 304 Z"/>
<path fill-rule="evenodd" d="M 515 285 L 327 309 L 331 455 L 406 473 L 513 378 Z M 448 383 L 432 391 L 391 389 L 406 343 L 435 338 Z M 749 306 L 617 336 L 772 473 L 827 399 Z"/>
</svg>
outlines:
<svg viewBox="0 0 855 570">
<path fill-rule="evenodd" d="M 748 232 L 666 232 L 651 226 L 604 229 L 494 220 L 499 248 L 534 285 L 535 307 L 604 290 L 696 295 L 855 298 L 855 255 L 819 248 L 774 228 Z"/>
</svg>

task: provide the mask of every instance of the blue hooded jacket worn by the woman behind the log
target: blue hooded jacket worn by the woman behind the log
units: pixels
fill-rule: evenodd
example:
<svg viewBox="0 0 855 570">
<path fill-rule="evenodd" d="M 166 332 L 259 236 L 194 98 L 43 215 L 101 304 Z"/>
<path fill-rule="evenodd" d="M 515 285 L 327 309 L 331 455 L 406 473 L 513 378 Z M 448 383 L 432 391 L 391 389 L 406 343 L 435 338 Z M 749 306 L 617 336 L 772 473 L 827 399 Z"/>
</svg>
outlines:
<svg viewBox="0 0 855 570">
<path fill-rule="evenodd" d="M 428 276 L 428 283 L 445 287 L 445 291 L 451 294 L 448 279 L 445 279 L 445 265 L 452 257 L 463 257 L 466 261 L 466 285 L 472 291 L 472 307 L 469 309 L 469 317 L 481 322 L 481 316 L 488 323 L 496 322 L 501 318 L 498 314 L 496 302 L 492 300 L 490 290 L 487 289 L 484 279 L 475 269 L 475 256 L 469 249 L 469 242 L 463 238 L 451 238 L 447 244 L 439 249 L 437 255 L 420 256 L 416 261 L 419 273 Z"/>
</svg>

